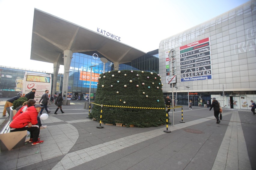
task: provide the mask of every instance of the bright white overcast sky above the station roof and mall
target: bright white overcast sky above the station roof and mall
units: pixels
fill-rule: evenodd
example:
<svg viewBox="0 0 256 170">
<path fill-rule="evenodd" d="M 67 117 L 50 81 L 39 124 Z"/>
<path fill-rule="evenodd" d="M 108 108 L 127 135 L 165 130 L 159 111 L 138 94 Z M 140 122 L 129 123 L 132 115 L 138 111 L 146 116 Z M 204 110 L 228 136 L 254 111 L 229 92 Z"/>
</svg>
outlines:
<svg viewBox="0 0 256 170">
<path fill-rule="evenodd" d="M 104 29 L 148 52 L 161 40 L 227 12 L 248 0 L 0 0 L 1 66 L 53 72 L 30 60 L 34 8 L 92 31 Z M 63 73 L 60 66 L 59 73 Z"/>
</svg>

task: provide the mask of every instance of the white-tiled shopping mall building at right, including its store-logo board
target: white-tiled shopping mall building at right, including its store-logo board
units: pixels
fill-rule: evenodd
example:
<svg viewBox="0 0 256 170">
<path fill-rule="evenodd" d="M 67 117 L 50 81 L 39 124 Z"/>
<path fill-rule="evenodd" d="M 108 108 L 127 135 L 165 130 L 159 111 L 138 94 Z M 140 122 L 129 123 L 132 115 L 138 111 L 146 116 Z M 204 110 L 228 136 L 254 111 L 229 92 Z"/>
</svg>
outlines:
<svg viewBox="0 0 256 170">
<path fill-rule="evenodd" d="M 194 93 L 189 96 L 197 106 L 202 105 L 198 103 L 203 97 L 222 96 L 223 91 L 225 101 L 234 100 L 232 96 L 236 95 L 253 95 L 256 90 L 255 6 L 256 1 L 249 1 L 162 40 L 159 66 L 164 94 L 169 95 L 172 91 L 167 84 L 169 62 L 166 61 L 169 51 L 174 49 L 176 56 L 172 67 L 177 74 L 177 100 L 183 101 L 182 96 L 187 95 L 186 86 Z M 187 102 L 184 100 L 182 104 Z M 224 106 L 228 107 L 227 104 Z"/>
</svg>

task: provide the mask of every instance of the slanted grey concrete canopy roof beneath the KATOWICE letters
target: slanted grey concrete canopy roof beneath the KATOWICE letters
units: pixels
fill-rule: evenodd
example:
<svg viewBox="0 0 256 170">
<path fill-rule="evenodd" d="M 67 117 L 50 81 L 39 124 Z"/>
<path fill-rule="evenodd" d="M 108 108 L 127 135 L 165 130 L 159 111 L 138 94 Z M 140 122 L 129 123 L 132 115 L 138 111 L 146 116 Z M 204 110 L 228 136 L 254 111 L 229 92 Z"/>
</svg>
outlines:
<svg viewBox="0 0 256 170">
<path fill-rule="evenodd" d="M 31 60 L 64 65 L 63 51 L 98 51 L 111 62 L 127 63 L 146 53 L 83 28 L 64 19 L 35 9 Z"/>
</svg>

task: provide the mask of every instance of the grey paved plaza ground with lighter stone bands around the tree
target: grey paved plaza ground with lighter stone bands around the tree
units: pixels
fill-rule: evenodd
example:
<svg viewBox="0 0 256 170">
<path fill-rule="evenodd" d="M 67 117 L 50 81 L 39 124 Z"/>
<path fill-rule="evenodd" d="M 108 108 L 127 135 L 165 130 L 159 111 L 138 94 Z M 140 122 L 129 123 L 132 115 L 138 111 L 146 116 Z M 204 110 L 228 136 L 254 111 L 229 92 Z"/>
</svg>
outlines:
<svg viewBox="0 0 256 170">
<path fill-rule="evenodd" d="M 1 98 L 2 115 L 5 101 Z M 0 169 L 24 170 L 251 170 L 256 169 L 256 116 L 250 110 L 224 109 L 216 124 L 213 110 L 175 109 L 174 126 L 126 128 L 88 119 L 83 101 L 62 106 L 40 130 L 44 143 L 0 152 Z M 45 110 L 44 110 L 45 112 Z M 43 113 L 44 113 L 43 112 Z M 171 113 L 171 112 L 170 112 Z M 104 117 L 104 113 L 102 114 Z M 0 117 L 2 124 L 6 117 Z M 172 113 L 170 114 L 172 122 Z"/>
</svg>

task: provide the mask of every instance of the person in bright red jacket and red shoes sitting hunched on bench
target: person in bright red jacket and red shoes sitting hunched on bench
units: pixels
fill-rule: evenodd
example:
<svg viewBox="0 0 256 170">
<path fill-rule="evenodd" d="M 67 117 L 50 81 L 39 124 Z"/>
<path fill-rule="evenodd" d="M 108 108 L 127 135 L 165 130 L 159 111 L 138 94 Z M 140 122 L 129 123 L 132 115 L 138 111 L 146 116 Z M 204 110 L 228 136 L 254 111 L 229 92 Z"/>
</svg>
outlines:
<svg viewBox="0 0 256 170">
<path fill-rule="evenodd" d="M 11 132 L 28 130 L 30 132 L 30 140 L 32 145 L 43 143 L 38 139 L 40 128 L 37 125 L 37 115 L 41 111 L 41 105 L 29 107 L 25 112 L 17 116 L 10 124 Z"/>
</svg>

